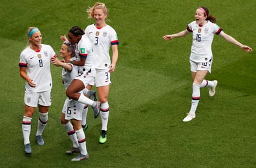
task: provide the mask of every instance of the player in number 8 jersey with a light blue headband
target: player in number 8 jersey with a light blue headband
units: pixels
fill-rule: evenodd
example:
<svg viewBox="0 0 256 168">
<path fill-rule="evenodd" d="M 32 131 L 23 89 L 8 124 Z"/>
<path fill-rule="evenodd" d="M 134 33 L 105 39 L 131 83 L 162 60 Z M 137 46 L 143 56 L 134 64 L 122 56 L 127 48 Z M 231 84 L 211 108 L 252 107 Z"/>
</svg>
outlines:
<svg viewBox="0 0 256 168">
<path fill-rule="evenodd" d="M 42 133 L 48 122 L 48 110 L 52 104 L 52 76 L 50 72 L 50 58 L 56 58 L 52 46 L 44 45 L 42 34 L 37 27 L 27 30 L 27 46 L 21 52 L 19 69 L 21 77 L 25 80 L 25 113 L 22 120 L 22 133 L 24 136 L 25 154 L 31 154 L 30 131 L 31 120 L 35 108 L 39 107 L 39 120 L 37 125 L 37 144 L 44 144 Z"/>
</svg>

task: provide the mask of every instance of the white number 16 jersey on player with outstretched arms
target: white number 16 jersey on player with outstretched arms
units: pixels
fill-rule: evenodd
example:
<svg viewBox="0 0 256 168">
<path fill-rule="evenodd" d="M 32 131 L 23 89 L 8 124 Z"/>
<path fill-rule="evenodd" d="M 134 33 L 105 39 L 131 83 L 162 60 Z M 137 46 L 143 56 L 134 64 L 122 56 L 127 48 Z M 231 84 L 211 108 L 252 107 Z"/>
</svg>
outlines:
<svg viewBox="0 0 256 168">
<path fill-rule="evenodd" d="M 208 20 L 203 26 L 193 21 L 188 24 L 187 30 L 193 32 L 190 60 L 196 63 L 206 63 L 211 60 L 213 58 L 211 44 L 214 34 L 221 33 L 222 29 Z"/>
</svg>

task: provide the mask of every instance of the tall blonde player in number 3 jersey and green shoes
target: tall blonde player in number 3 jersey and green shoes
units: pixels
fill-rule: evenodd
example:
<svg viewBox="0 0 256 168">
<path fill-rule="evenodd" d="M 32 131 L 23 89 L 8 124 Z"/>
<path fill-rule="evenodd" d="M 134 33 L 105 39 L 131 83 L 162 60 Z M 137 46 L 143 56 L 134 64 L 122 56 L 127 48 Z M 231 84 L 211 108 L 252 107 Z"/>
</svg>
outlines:
<svg viewBox="0 0 256 168">
<path fill-rule="evenodd" d="M 109 84 L 111 84 L 110 74 L 116 69 L 119 40 L 116 31 L 106 24 L 108 11 L 104 3 L 96 2 L 93 7 L 88 8 L 87 12 L 88 18 L 94 18 L 95 20 L 94 24 L 86 27 L 85 35 L 93 45 L 93 59 L 96 69 L 95 81 L 89 84 L 88 89 L 91 89 L 94 84 L 97 87 L 99 101 L 101 102 L 100 114 L 102 122 L 99 143 L 106 143 L 109 118 L 107 96 L 109 94 Z M 109 56 L 110 47 L 112 48 L 112 63 Z M 83 118 L 83 120 L 86 120 L 86 118 Z"/>
</svg>

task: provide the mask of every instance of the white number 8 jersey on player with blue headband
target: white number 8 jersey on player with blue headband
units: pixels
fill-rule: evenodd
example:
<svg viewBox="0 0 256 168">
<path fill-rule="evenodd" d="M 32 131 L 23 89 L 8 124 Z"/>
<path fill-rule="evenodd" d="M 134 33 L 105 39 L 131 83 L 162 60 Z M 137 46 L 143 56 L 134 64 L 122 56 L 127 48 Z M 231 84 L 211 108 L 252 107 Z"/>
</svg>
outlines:
<svg viewBox="0 0 256 168">
<path fill-rule="evenodd" d="M 20 55 L 19 66 L 25 67 L 27 76 L 33 80 L 35 87 L 25 82 L 25 90 L 30 92 L 43 92 L 52 89 L 52 76 L 50 72 L 50 58 L 57 57 L 50 45 L 41 45 L 40 51 L 34 51 L 29 46 Z"/>
</svg>

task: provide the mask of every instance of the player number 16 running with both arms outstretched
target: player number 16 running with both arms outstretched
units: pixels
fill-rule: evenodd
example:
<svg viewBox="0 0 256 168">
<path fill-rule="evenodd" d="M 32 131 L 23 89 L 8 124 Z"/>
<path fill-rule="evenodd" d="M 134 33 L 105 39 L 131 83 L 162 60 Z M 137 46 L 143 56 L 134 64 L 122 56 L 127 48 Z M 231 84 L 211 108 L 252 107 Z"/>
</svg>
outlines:
<svg viewBox="0 0 256 168">
<path fill-rule="evenodd" d="M 207 7 L 198 7 L 194 14 L 195 21 L 188 24 L 186 30 L 179 33 L 165 35 L 164 40 L 171 40 L 177 37 L 185 37 L 189 33 L 193 33 L 193 43 L 191 46 L 190 54 L 190 70 L 193 79 L 193 93 L 191 100 L 191 109 L 187 113 L 187 116 L 183 119 L 183 122 L 189 122 L 196 117 L 196 108 L 200 99 L 200 88 L 209 87 L 209 96 L 214 96 L 217 81 L 208 81 L 204 79 L 206 74 L 211 73 L 211 65 L 213 64 L 213 53 L 211 51 L 211 44 L 213 42 L 214 34 L 220 35 L 227 42 L 233 43 L 239 46 L 245 52 L 252 51 L 247 45 L 235 40 L 230 35 L 227 35 L 217 25 L 216 18 L 213 15 L 209 15 Z"/>
</svg>

